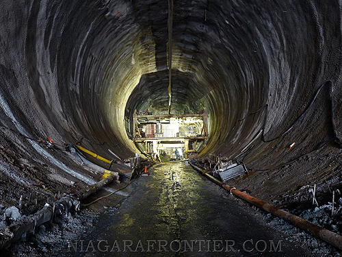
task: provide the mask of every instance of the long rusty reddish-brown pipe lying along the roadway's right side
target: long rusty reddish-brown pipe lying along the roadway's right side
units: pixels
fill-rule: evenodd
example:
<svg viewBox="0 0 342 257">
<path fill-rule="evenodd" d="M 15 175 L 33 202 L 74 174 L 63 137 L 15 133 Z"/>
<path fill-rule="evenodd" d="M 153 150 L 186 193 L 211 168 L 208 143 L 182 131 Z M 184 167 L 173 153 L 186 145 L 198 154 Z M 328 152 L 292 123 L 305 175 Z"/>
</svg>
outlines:
<svg viewBox="0 0 342 257">
<path fill-rule="evenodd" d="M 233 195 L 239 197 L 240 199 L 248 201 L 250 204 L 257 206 L 258 208 L 261 208 L 262 210 L 265 210 L 269 213 L 272 213 L 272 215 L 275 215 L 276 217 L 284 219 L 285 221 L 295 225 L 296 227 L 304 230 L 305 232 L 312 234 L 313 236 L 325 241 L 326 243 L 333 245 L 334 247 L 342 249 L 342 236 L 341 235 L 331 232 L 330 230 L 326 230 L 325 228 L 322 228 L 319 225 L 315 225 L 298 216 L 292 215 L 291 213 L 286 212 L 285 210 L 281 210 L 277 208 L 276 206 L 267 204 L 265 201 L 261 201 L 255 197 L 247 195 L 246 193 L 238 191 L 236 188 L 232 188 L 231 186 L 228 186 L 220 182 L 219 180 L 214 178 L 212 175 L 209 175 L 205 171 L 202 171 L 202 169 L 200 169 L 199 167 L 196 167 L 194 164 L 190 163 L 190 165 L 197 171 L 200 171 L 202 175 L 205 175 L 207 178 L 209 178 L 209 180 L 222 186 L 223 188 L 230 191 Z"/>
</svg>

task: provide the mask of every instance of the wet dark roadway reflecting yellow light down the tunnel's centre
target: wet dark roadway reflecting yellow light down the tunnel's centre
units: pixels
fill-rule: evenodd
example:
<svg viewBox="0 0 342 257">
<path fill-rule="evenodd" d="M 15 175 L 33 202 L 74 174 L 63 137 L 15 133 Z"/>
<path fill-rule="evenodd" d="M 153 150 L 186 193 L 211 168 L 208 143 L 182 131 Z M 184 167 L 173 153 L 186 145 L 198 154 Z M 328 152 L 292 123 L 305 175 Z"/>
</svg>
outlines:
<svg viewBox="0 0 342 257">
<path fill-rule="evenodd" d="M 311 256 L 183 162 L 133 180 L 68 256 Z"/>
</svg>

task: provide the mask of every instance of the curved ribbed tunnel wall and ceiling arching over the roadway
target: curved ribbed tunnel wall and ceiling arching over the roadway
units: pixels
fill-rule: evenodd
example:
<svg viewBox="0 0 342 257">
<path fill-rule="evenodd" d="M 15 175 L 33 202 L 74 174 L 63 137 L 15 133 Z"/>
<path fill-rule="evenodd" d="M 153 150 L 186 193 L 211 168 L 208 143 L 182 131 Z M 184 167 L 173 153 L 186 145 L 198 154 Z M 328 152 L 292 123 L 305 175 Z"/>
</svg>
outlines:
<svg viewBox="0 0 342 257">
<path fill-rule="evenodd" d="M 261 199 L 306 184 L 339 188 L 339 1 L 29 0 L 0 7 L 3 199 L 31 180 L 58 191 L 73 178 L 64 183 L 68 192 L 94 182 L 49 142 L 83 144 L 107 159 L 142 155 L 127 123 L 148 108 L 205 109 L 208 139 L 198 158 L 243 161 L 252 175 L 236 185 Z"/>
</svg>

